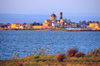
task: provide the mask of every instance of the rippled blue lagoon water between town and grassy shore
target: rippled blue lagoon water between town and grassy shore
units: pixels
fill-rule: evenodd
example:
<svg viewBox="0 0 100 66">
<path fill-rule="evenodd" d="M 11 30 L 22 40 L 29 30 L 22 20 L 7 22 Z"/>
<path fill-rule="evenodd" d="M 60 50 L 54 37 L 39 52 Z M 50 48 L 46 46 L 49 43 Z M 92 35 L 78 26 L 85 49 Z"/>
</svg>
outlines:
<svg viewBox="0 0 100 66">
<path fill-rule="evenodd" d="M 73 47 L 85 54 L 100 47 L 100 31 L 0 31 L 0 59 L 11 59 L 14 53 L 19 58 L 38 54 L 39 48 L 45 55 L 66 54 Z"/>
</svg>

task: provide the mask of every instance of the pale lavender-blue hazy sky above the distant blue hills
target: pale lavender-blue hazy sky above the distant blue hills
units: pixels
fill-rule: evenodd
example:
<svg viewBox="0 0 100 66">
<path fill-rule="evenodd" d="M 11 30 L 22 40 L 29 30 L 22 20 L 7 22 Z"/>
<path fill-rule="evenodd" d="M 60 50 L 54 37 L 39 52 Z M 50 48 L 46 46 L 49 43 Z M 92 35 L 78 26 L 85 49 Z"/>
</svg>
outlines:
<svg viewBox="0 0 100 66">
<path fill-rule="evenodd" d="M 100 0 L 0 0 L 0 13 L 100 16 Z"/>
</svg>

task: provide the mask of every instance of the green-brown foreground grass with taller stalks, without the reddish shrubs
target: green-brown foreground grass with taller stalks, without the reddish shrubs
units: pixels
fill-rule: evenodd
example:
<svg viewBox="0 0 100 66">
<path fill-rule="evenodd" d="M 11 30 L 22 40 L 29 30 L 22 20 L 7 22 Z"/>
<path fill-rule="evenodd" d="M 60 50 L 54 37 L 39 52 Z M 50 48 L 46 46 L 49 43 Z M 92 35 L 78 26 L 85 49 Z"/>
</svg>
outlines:
<svg viewBox="0 0 100 66">
<path fill-rule="evenodd" d="M 22 64 L 23 66 L 87 66 L 89 64 L 99 66 L 100 56 L 96 55 L 99 53 L 99 48 L 95 51 L 85 55 L 84 57 L 68 57 L 64 58 L 63 61 L 59 62 L 57 60 L 58 55 L 43 55 L 45 52 L 43 49 L 39 49 L 39 54 L 37 56 L 26 56 L 21 59 L 18 58 L 15 53 L 11 60 L 0 60 L 1 66 L 18 66 Z M 95 53 L 95 54 L 94 54 Z"/>
</svg>

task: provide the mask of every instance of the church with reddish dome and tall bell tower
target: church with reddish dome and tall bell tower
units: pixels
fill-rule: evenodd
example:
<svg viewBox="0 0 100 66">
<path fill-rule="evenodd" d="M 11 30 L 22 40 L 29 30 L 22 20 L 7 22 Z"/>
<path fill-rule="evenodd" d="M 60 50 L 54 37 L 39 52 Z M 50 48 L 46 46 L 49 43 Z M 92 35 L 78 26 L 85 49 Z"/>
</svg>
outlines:
<svg viewBox="0 0 100 66">
<path fill-rule="evenodd" d="M 57 20 L 57 17 L 53 12 L 53 14 L 51 14 L 51 16 L 50 16 L 50 19 L 46 19 L 44 21 L 43 26 L 62 27 L 63 26 L 62 12 L 59 13 L 59 20 Z"/>
</svg>

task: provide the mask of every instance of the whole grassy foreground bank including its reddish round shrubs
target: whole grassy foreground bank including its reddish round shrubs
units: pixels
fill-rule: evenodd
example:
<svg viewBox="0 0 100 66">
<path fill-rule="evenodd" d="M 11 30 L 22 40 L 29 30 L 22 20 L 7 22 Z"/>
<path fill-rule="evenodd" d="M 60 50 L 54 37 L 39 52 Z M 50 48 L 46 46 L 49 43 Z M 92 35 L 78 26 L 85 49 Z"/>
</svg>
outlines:
<svg viewBox="0 0 100 66">
<path fill-rule="evenodd" d="M 0 66 L 100 66 L 100 53 L 86 56 L 75 48 L 70 48 L 67 56 L 63 53 L 55 56 L 26 56 L 21 59 L 0 60 Z"/>
</svg>

